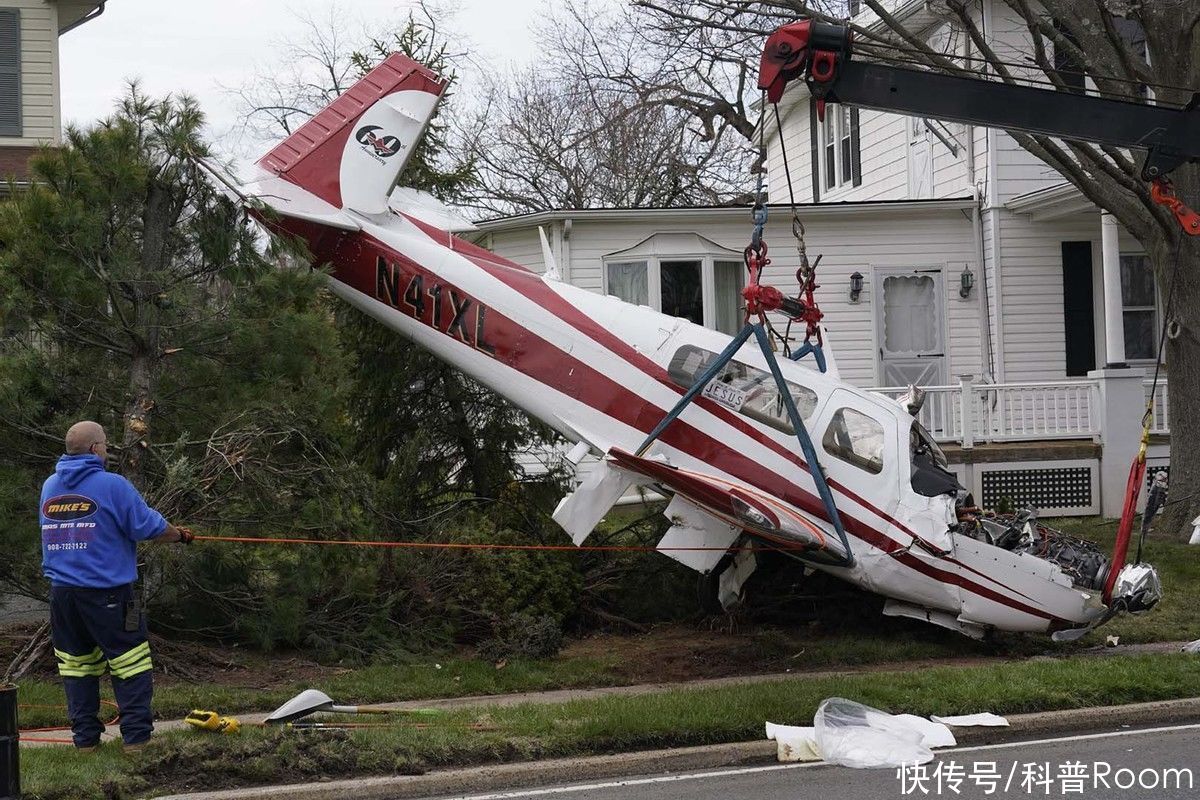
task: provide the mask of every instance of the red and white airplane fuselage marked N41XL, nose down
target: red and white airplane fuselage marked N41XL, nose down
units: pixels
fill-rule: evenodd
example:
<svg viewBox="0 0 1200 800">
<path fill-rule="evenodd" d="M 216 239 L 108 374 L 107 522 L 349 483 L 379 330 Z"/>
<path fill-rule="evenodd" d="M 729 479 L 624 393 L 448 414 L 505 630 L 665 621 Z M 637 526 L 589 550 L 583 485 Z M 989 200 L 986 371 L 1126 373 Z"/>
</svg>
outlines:
<svg viewBox="0 0 1200 800">
<path fill-rule="evenodd" d="M 340 297 L 610 459 L 637 451 L 689 387 L 680 359 L 719 353 L 730 342 L 644 306 L 546 279 L 414 217 L 355 219 L 361 230 L 293 218 L 275 225 L 302 236 L 314 263 L 332 265 L 330 285 Z M 766 369 L 752 345 L 737 360 Z M 814 554 L 815 569 L 892 599 L 888 613 L 964 632 L 1073 627 L 1103 613 L 1100 593 L 1074 587 L 1057 565 L 952 531 L 953 499 L 923 497 L 910 486 L 912 417 L 899 404 L 796 362 L 781 367 L 793 396 L 803 392 L 804 422 L 854 555 L 853 566 L 839 567 Z M 828 443 L 822 451 L 824 432 L 851 415 L 877 428 L 870 458 L 832 455 L 838 451 Z M 720 396 L 697 397 L 649 450 L 656 469 L 670 474 L 658 482 L 646 462 L 643 476 L 725 523 L 740 525 L 714 497 L 736 492 L 776 522 L 833 541 L 787 427 L 769 409 L 750 413 Z M 876 428 L 864 435 L 875 437 Z"/>
</svg>

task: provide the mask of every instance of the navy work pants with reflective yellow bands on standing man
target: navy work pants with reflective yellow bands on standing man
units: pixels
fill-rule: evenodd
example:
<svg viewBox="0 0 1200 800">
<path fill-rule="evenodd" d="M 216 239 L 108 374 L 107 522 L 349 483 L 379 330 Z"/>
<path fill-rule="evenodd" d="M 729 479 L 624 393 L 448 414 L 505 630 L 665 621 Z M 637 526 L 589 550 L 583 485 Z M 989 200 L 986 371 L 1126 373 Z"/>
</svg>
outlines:
<svg viewBox="0 0 1200 800">
<path fill-rule="evenodd" d="M 154 730 L 150 642 L 145 615 L 132 585 L 113 589 L 50 587 L 50 637 L 67 693 L 67 715 L 77 747 L 100 742 L 100 679 L 113 673 L 121 712 L 121 739 L 136 745 Z M 133 630 L 130 630 L 133 628 Z"/>
</svg>

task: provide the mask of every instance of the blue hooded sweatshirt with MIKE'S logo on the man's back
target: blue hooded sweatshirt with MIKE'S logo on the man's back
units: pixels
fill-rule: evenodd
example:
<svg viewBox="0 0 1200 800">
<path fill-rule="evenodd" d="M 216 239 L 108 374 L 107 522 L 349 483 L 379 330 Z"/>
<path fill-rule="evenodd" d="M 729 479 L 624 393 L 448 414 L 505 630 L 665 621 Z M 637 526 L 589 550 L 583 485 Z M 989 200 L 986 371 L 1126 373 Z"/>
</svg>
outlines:
<svg viewBox="0 0 1200 800">
<path fill-rule="evenodd" d="M 42 573 L 56 587 L 110 589 L 138 578 L 137 543 L 167 521 L 98 456 L 59 458 L 42 486 Z"/>
</svg>

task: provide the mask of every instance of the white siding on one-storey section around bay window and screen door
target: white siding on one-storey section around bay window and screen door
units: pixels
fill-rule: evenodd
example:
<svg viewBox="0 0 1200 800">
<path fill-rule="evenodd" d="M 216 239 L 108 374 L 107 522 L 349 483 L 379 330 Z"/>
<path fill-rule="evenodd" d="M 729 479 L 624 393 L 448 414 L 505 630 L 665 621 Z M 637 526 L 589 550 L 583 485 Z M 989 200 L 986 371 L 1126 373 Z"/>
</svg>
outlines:
<svg viewBox="0 0 1200 800">
<path fill-rule="evenodd" d="M 576 218 L 570 240 L 571 282 L 599 291 L 604 257 L 632 247 L 655 233 L 694 231 L 736 251 L 745 246 L 750 235 L 748 215 L 740 212 L 714 211 L 710 218 L 688 221 L 671 221 L 665 213 L 648 211 L 644 221 L 635 222 Z M 794 294 L 798 257 L 786 219 L 785 213 L 775 210 L 767 224 L 772 265 L 764 283 Z M 959 210 L 898 210 L 880 205 L 853 215 L 809 211 L 804 212 L 804 222 L 810 258 L 823 255 L 817 299 L 846 380 L 862 386 L 878 381 L 871 283 L 872 270 L 884 266 L 942 267 L 948 329 L 947 374 L 980 373 L 980 295 L 973 291 L 970 299 L 962 300 L 958 294 L 959 273 L 965 265 L 970 264 L 972 271 L 979 273 L 968 216 Z M 505 258 L 528 264 L 529 242 L 535 240 L 536 228 L 529 227 L 492 235 L 492 248 Z M 848 296 L 850 275 L 854 271 L 863 273 L 866 284 L 858 303 L 851 303 Z"/>
</svg>

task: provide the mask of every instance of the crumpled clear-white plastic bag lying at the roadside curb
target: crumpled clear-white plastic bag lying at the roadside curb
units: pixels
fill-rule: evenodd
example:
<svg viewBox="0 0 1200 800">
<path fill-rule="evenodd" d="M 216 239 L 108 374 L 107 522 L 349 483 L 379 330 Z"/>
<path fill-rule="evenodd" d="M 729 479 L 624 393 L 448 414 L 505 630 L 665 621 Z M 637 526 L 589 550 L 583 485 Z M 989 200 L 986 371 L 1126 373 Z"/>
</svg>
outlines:
<svg viewBox="0 0 1200 800">
<path fill-rule="evenodd" d="M 817 748 L 830 764 L 854 769 L 925 764 L 934 759 L 920 732 L 869 705 L 830 697 L 821 703 L 812 724 Z"/>
</svg>

